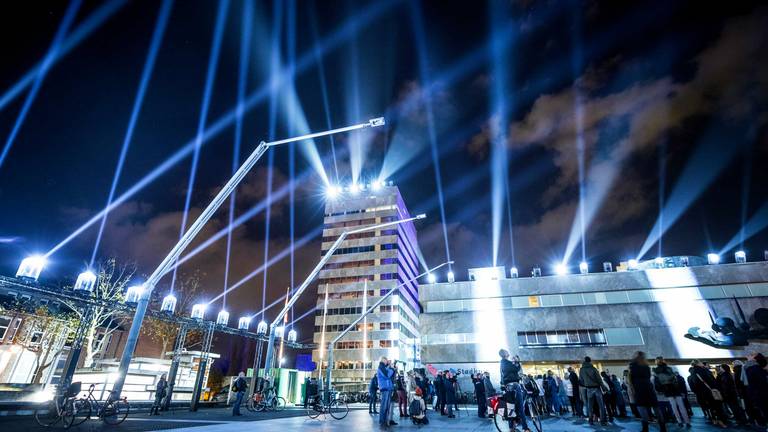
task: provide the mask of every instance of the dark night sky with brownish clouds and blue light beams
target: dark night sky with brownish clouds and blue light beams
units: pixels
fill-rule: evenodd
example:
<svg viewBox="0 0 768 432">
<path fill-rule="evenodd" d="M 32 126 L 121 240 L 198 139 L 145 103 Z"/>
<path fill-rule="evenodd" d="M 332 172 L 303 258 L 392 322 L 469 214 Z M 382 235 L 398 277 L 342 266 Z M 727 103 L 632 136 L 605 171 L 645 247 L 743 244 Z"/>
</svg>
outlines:
<svg viewBox="0 0 768 432">
<path fill-rule="evenodd" d="M 583 243 L 593 269 L 636 257 L 644 243 L 646 259 L 722 251 L 730 261 L 742 247 L 743 226 L 749 259 L 762 259 L 768 7 L 760 3 L 254 2 L 245 93 L 262 97 L 243 114 L 239 157 L 270 137 L 386 116 L 382 130 L 315 141 L 314 164 L 306 156 L 312 145 L 296 146 L 295 238 L 322 225 L 325 184 L 317 167 L 343 184 L 357 173 L 367 180 L 383 171 L 413 214 L 429 216 L 417 225 L 425 262 L 445 261 L 434 150 L 458 279 L 466 279 L 467 268 L 493 263 L 494 231 L 499 265 L 514 263 L 526 275 L 538 264 L 550 273 L 568 249 L 572 227 L 581 231 L 580 178 L 587 213 L 594 210 L 585 218 Z M 85 1 L 69 33 L 105 4 Z M 120 6 L 46 74 L 0 165 L 1 274 L 13 275 L 23 256 L 49 251 L 104 208 L 160 6 Z M 67 7 L 64 1 L 4 6 L 3 96 L 45 57 Z M 214 1 L 173 5 L 116 196 L 193 142 L 218 10 Z M 239 0 L 226 10 L 206 127 L 238 101 L 244 11 Z M 269 96 L 270 82 L 279 83 L 272 86 L 276 97 Z M 0 108 L 3 148 L 29 89 Z M 236 133 L 234 122 L 226 126 L 200 152 L 190 217 L 231 172 Z M 500 149 L 506 161 L 494 170 Z M 279 190 L 290 181 L 290 151 L 273 151 L 273 190 Z M 154 269 L 178 239 L 191 159 L 109 214 L 97 260 L 135 263 L 142 275 Z M 266 197 L 267 164 L 265 157 L 238 189 L 235 216 Z M 509 213 L 506 194 L 493 193 L 494 178 L 509 185 Z M 495 225 L 494 199 L 501 209 Z M 660 208 L 661 248 L 647 242 Z M 200 240 L 227 219 L 225 205 Z M 290 245 L 288 194 L 273 203 L 270 220 L 272 256 Z M 89 264 L 97 232 L 95 224 L 53 254 L 41 279 L 71 281 Z M 263 212 L 233 232 L 229 285 L 263 264 L 265 240 Z M 578 238 L 570 249 L 575 268 L 582 259 Z M 225 257 L 222 238 L 181 267 L 185 275 L 200 272 L 203 299 L 221 292 Z M 318 236 L 295 250 L 296 284 L 319 258 Z M 227 296 L 234 317 L 261 308 L 262 278 Z M 284 294 L 290 280 L 288 255 L 269 268 L 267 302 Z M 169 283 L 164 279 L 158 289 Z M 295 316 L 314 301 L 307 295 Z M 297 324 L 300 340 L 311 337 L 311 322 Z"/>
</svg>

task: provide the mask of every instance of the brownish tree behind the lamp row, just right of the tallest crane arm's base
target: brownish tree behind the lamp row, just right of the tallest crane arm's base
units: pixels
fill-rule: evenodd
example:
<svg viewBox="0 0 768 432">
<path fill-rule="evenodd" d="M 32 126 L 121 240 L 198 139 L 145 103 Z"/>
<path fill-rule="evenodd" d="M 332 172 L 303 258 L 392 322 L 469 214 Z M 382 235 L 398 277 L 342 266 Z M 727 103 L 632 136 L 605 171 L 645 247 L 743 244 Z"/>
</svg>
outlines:
<svg viewBox="0 0 768 432">
<path fill-rule="evenodd" d="M 197 292 L 200 289 L 200 277 L 197 273 L 183 280 L 179 280 L 173 291 L 176 297 L 176 310 L 188 311 L 192 308 Z M 150 307 L 155 310 L 160 309 L 162 298 L 167 293 L 160 294 L 160 290 L 155 290 L 150 299 Z M 163 321 L 157 318 L 147 317 L 141 326 L 142 334 L 148 336 L 152 341 L 160 344 L 160 358 L 164 358 L 168 350 L 172 347 L 176 335 L 179 334 L 179 324 Z M 187 343 L 194 343 L 200 339 L 197 332 L 187 334 Z"/>
</svg>

